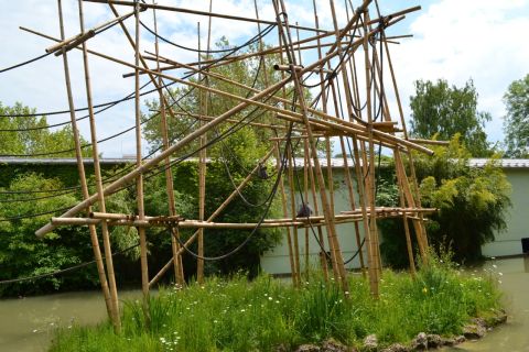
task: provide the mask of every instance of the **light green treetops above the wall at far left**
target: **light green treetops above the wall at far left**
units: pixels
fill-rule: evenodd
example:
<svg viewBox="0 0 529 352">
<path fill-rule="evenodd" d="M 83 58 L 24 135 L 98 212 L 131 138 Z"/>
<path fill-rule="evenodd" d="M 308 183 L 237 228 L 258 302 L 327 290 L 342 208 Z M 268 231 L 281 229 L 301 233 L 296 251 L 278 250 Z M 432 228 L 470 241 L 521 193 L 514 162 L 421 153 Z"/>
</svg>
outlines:
<svg viewBox="0 0 529 352">
<path fill-rule="evenodd" d="M 52 153 L 37 157 L 65 157 L 74 156 L 74 140 L 72 127 L 52 131 L 45 116 L 36 116 L 35 109 L 30 109 L 20 102 L 13 107 L 2 106 L 0 102 L 0 154 L 8 155 L 32 155 Z M 33 116 L 35 114 L 35 116 Z M 82 144 L 87 144 L 80 138 Z M 57 153 L 67 151 L 64 153 Z M 91 147 L 83 148 L 83 156 L 90 156 Z"/>
</svg>

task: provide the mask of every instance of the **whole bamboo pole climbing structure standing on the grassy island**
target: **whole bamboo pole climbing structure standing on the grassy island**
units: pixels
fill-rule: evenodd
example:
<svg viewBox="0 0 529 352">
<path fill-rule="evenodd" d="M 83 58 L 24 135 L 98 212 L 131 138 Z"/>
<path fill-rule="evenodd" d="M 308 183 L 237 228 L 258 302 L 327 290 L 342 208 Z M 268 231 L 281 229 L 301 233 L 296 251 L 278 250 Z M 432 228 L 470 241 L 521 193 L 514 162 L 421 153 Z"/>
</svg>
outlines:
<svg viewBox="0 0 529 352">
<path fill-rule="evenodd" d="M 174 270 L 175 283 L 185 285 L 182 255 L 188 253 L 195 256 L 196 279 L 203 283 L 204 263 L 212 260 L 206 256 L 205 249 L 209 233 L 215 232 L 215 229 L 245 230 L 252 233 L 259 228 L 282 229 L 288 245 L 293 285 L 301 285 L 302 272 L 306 274 L 304 278 L 309 279 L 310 266 L 313 264 L 311 253 L 316 253 L 316 264 L 321 266 L 325 279 L 333 277 L 346 295 L 349 295 L 346 266 L 350 267 L 348 263 L 358 256 L 356 267 L 368 277 L 371 294 L 378 297 L 381 258 L 377 221 L 381 219 L 402 219 L 406 254 L 410 261 L 412 275 L 415 271 L 413 241 L 418 244 L 421 260 L 428 260 L 428 239 L 423 220 L 435 209 L 421 207 L 413 154 L 432 154 L 428 145 L 445 142 L 409 138 L 390 56 L 390 44 L 409 35 L 386 35 L 388 29 L 420 7 L 384 15 L 379 12 L 377 0 L 363 0 L 355 10 L 349 8 L 350 2 L 345 1 L 344 14 L 337 10 L 334 0 L 330 0 L 328 9 L 325 11 L 331 14 L 332 28 L 322 28 L 319 16 L 319 10 L 322 9 L 317 9 L 316 1 L 312 3 L 313 26 L 295 22 L 296 19 L 293 18 L 295 14 L 289 13 L 283 0 L 255 0 L 252 3 L 255 18 L 248 14 L 240 16 L 215 12 L 210 0 L 205 3 L 204 8 L 207 7 L 207 10 L 204 11 L 161 6 L 154 1 L 152 3 L 138 0 L 78 1 L 77 21 L 80 31 L 76 35 L 65 37 L 61 0 L 58 0 L 60 37 L 21 28 L 52 41 L 52 44 L 45 47 L 46 52 L 63 56 L 73 140 L 83 191 L 80 202 L 62 216 L 52 218 L 50 223 L 36 231 L 36 235 L 42 237 L 60 226 L 88 228 L 108 315 L 117 332 L 120 329 L 120 316 L 109 240 L 110 229 L 114 227 L 138 229 L 147 321 L 150 288 L 170 268 Z M 108 19 L 91 29 L 85 29 L 84 2 L 109 10 Z M 262 8 L 268 11 L 260 11 Z M 274 20 L 260 18 L 260 13 L 270 12 L 274 13 Z M 171 37 L 172 33 L 161 25 L 166 22 L 156 21 L 160 13 L 174 18 L 193 15 L 207 21 L 207 31 L 203 31 L 207 33 L 206 45 L 201 44 L 203 36 L 201 22 L 197 24 L 196 47 L 188 48 L 170 42 L 168 37 Z M 144 24 L 149 14 L 152 15 L 153 30 Z M 212 50 L 210 42 L 218 34 L 212 30 L 213 19 L 215 24 L 217 21 L 230 25 L 250 23 L 255 25 L 252 36 L 233 50 L 231 47 Z M 120 31 L 106 31 L 115 25 L 120 28 Z M 140 31 L 141 26 L 147 31 Z M 91 41 L 106 35 L 118 36 L 112 40 L 128 42 L 133 53 L 123 58 L 96 50 Z M 148 37 L 152 41 L 145 40 Z M 168 50 L 169 44 L 173 45 L 171 51 Z M 179 55 L 179 51 L 190 50 L 194 52 L 193 61 L 185 62 L 182 57 L 191 56 Z M 93 195 L 87 187 L 75 119 L 73 103 L 75 92 L 71 84 L 72 73 L 67 56 L 69 51 L 79 51 L 83 54 L 83 78 L 86 86 L 96 179 L 96 193 Z M 107 185 L 101 180 L 99 166 L 89 57 L 120 65 L 129 70 L 123 78 L 134 77 L 136 165 Z M 229 74 L 240 67 L 245 67 L 249 77 Z M 152 84 L 153 91 L 158 94 L 156 109 L 149 113 L 153 113 L 153 118 L 159 118 L 161 132 L 160 151 L 147 160 L 142 160 L 140 87 L 142 79 Z M 169 88 L 170 85 L 179 89 Z M 175 98 L 175 94 L 180 96 Z M 389 97 L 395 99 L 390 101 Z M 179 103 L 182 99 L 187 100 L 184 100 L 185 103 Z M 196 124 L 190 123 L 190 129 L 185 130 L 182 125 L 186 121 L 196 121 Z M 175 138 L 174 130 L 179 129 L 177 132 L 185 133 Z M 230 141 L 238 131 L 248 129 L 251 129 L 259 140 L 260 145 L 256 145 L 256 151 L 262 153 L 255 157 L 255 165 L 245 168 L 246 177 L 240 177 L 238 183 L 229 175 L 234 185 L 233 191 L 226 195 L 224 200 L 215 200 L 218 201 L 215 205 L 216 210 L 206 216 L 206 209 L 210 209 L 212 201 L 208 198 L 209 190 L 206 194 L 206 189 L 209 189 L 206 174 L 209 160 L 206 156 L 226 163 L 228 157 L 224 153 L 230 146 L 218 143 Z M 335 150 L 341 154 L 341 165 L 344 167 L 343 196 L 346 198 L 346 209 L 339 209 L 341 202 L 336 198 L 342 186 L 335 184 L 333 169 L 336 161 L 333 158 Z M 377 201 L 382 151 L 385 154 L 393 155 L 396 186 L 399 190 L 399 204 L 390 208 L 380 207 Z M 175 185 L 180 180 L 173 175 L 173 165 L 190 157 L 197 157 L 196 219 L 182 218 L 177 211 L 181 205 L 175 198 Z M 229 173 L 231 166 L 227 163 L 225 165 Z M 272 176 L 262 175 L 262 167 L 266 166 L 273 168 Z M 165 178 L 163 183 L 166 194 L 164 201 L 168 205 L 165 215 L 145 213 L 144 183 L 148 175 L 156 172 Z M 264 213 L 260 221 L 258 219 L 248 222 L 217 221 L 223 212 L 229 211 L 229 205 L 239 200 L 247 201 L 242 191 L 259 177 L 268 182 L 267 187 L 270 188 L 270 197 L 263 197 L 267 198 L 266 204 L 270 205 L 274 197 L 279 198 L 281 215 Z M 137 213 L 107 211 L 107 198 L 130 185 L 136 185 Z M 305 207 L 309 202 L 312 208 L 306 213 L 309 210 Z M 97 211 L 93 209 L 96 205 Z M 305 209 L 305 213 L 300 215 L 300 209 Z M 168 257 L 164 266 L 153 272 L 155 275 L 149 274 L 148 248 L 151 228 L 165 228 L 169 230 L 168 235 L 171 237 L 172 255 Z M 97 229 L 101 232 L 105 261 L 99 249 Z M 181 229 L 194 229 L 185 242 L 181 238 Z M 412 239 L 413 234 L 415 239 Z M 315 242 L 311 242 L 312 237 Z M 317 245 L 314 246 L 314 243 Z M 192 246 L 195 244 L 196 253 Z M 344 258 L 344 244 L 349 248 L 356 246 L 356 253 L 349 260 Z"/>
</svg>

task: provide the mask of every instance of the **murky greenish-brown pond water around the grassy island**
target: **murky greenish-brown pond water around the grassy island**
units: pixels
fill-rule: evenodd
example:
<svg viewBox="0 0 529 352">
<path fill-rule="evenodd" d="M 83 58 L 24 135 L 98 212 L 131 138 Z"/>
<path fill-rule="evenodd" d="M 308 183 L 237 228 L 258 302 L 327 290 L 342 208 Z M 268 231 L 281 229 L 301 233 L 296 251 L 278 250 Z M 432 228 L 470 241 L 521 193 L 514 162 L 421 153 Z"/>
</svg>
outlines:
<svg viewBox="0 0 529 352">
<path fill-rule="evenodd" d="M 529 257 L 497 260 L 483 267 L 490 268 L 503 274 L 499 279 L 508 322 L 479 341 L 465 342 L 443 352 L 529 350 Z M 120 292 L 120 299 L 140 297 L 139 290 Z M 57 326 L 97 323 L 105 316 L 105 302 L 96 290 L 0 300 L 0 351 L 46 351 Z"/>
</svg>

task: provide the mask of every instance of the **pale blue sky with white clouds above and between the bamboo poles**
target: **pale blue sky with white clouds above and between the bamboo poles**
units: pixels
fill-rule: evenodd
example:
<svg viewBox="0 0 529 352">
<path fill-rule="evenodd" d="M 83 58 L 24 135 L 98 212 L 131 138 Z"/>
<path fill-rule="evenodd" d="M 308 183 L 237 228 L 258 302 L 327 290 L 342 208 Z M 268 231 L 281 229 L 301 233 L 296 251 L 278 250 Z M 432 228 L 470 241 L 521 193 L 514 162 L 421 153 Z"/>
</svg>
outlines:
<svg viewBox="0 0 529 352">
<path fill-rule="evenodd" d="M 79 32 L 77 0 L 63 0 L 66 36 Z M 388 35 L 413 34 L 391 46 L 391 58 L 403 101 L 404 114 L 409 117 L 409 97 L 413 95 L 413 81 L 417 79 L 446 79 L 457 87 L 472 79 L 478 92 L 478 110 L 492 114 L 493 121 L 486 124 L 490 142 L 500 142 L 503 117 L 506 114 L 503 96 L 510 82 L 529 74 L 529 0 L 428 0 L 428 1 L 389 1 L 380 0 L 382 14 L 410 8 L 422 7 L 407 15 L 404 21 L 388 29 Z M 208 0 L 180 1 L 159 0 L 159 4 L 207 11 Z M 271 1 L 258 0 L 259 15 L 264 20 L 274 20 Z M 359 1 L 353 1 L 358 6 Z M 321 28 L 332 29 L 333 22 L 327 0 L 317 0 Z M 346 23 L 344 1 L 336 1 L 338 24 Z M 112 19 L 106 4 L 84 4 L 86 28 L 95 26 Z M 118 7 L 121 14 L 130 8 Z M 252 0 L 214 0 L 215 12 L 255 16 Z M 287 1 L 289 21 L 300 25 L 313 26 L 312 1 Z M 202 45 L 206 43 L 207 18 L 175 12 L 156 12 L 161 33 L 179 44 L 197 46 L 197 22 L 201 22 Z M 371 13 L 371 18 L 375 13 Z M 44 48 L 53 42 L 21 31 L 25 26 L 47 35 L 58 37 L 58 16 L 56 0 L 4 1 L 0 11 L 0 69 L 42 55 Z M 153 26 L 152 12 L 141 14 L 142 21 Z M 133 21 L 127 22 L 133 33 Z M 257 26 L 249 22 L 234 22 L 214 19 L 212 42 L 223 35 L 231 44 L 240 44 L 257 33 Z M 307 34 L 301 33 L 301 36 Z M 273 44 L 277 34 L 272 32 L 264 38 Z M 141 47 L 153 52 L 153 37 L 145 31 L 141 34 Z M 87 42 L 90 50 L 106 53 L 133 63 L 133 51 L 126 42 L 119 28 L 95 36 Z M 180 62 L 196 59 L 196 53 L 177 50 L 169 44 L 161 44 L 164 56 Z M 68 54 L 74 101 L 76 108 L 86 107 L 86 90 L 82 56 L 78 51 Z M 315 59 L 304 56 L 306 65 Z M 89 58 L 90 78 L 95 103 L 120 99 L 133 91 L 133 78 L 123 78 L 130 69 L 105 61 Z M 144 82 L 143 80 L 142 82 Z M 152 86 L 151 86 L 152 88 Z M 144 99 L 153 99 L 154 95 Z M 63 61 L 53 55 L 24 67 L 0 74 L 0 101 L 11 106 L 21 101 L 36 108 L 39 112 L 67 109 L 67 96 L 63 73 Z M 78 117 L 84 113 L 78 114 Z M 63 122 L 68 114 L 48 117 L 50 123 Z M 96 117 L 98 139 L 107 138 L 134 124 L 133 100 L 121 103 Z M 87 120 L 79 123 L 85 139 L 89 140 Z M 133 132 L 101 143 L 99 152 L 104 157 L 120 157 L 134 154 Z M 143 154 L 147 145 L 143 145 Z"/>
</svg>

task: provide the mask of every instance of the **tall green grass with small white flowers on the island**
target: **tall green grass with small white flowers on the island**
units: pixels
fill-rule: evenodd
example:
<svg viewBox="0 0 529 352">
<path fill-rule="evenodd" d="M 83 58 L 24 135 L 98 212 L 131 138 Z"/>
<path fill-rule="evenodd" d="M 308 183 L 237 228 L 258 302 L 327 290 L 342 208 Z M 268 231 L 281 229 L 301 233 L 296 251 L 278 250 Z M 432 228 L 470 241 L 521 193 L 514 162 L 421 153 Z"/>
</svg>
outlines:
<svg viewBox="0 0 529 352">
<path fill-rule="evenodd" d="M 266 275 L 252 282 L 213 277 L 202 286 L 161 289 L 150 299 L 149 327 L 141 302 L 128 301 L 120 336 L 109 322 L 58 330 L 51 351 L 276 351 L 330 338 L 359 346 L 371 333 L 389 345 L 421 331 L 460 334 L 471 318 L 500 308 L 494 276 L 463 274 L 439 258 L 415 279 L 386 271 L 379 300 L 361 277 L 350 277 L 350 289 L 346 299 L 317 274 L 299 289 Z"/>
</svg>

